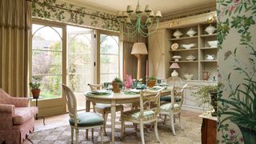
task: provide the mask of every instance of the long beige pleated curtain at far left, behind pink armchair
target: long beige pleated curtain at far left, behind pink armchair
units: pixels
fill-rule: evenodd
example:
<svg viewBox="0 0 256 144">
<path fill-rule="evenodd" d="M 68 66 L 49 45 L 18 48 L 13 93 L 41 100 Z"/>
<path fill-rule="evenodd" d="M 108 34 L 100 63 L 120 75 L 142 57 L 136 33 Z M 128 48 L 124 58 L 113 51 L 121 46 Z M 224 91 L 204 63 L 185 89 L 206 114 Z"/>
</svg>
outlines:
<svg viewBox="0 0 256 144">
<path fill-rule="evenodd" d="M 15 97 L 27 96 L 31 4 L 0 1 L 0 88 Z"/>
</svg>

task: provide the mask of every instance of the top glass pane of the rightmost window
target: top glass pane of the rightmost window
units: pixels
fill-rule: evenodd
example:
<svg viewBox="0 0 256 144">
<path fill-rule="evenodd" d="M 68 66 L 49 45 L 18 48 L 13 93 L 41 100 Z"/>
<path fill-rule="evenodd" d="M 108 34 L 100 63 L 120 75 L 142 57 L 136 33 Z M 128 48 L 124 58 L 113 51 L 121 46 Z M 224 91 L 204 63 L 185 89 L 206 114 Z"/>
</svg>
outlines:
<svg viewBox="0 0 256 144">
<path fill-rule="evenodd" d="M 118 54 L 118 37 L 101 34 L 101 54 Z"/>
</svg>

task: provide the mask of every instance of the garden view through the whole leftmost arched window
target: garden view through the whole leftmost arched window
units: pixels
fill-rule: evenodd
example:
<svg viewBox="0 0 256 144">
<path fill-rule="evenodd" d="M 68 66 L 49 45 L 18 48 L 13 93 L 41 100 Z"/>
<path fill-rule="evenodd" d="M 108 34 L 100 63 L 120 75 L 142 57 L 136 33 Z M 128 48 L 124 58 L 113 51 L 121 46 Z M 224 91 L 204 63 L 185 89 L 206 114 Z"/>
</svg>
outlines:
<svg viewBox="0 0 256 144">
<path fill-rule="evenodd" d="M 59 98 L 62 90 L 62 28 L 33 24 L 32 80 L 40 82 L 44 98 Z"/>
</svg>

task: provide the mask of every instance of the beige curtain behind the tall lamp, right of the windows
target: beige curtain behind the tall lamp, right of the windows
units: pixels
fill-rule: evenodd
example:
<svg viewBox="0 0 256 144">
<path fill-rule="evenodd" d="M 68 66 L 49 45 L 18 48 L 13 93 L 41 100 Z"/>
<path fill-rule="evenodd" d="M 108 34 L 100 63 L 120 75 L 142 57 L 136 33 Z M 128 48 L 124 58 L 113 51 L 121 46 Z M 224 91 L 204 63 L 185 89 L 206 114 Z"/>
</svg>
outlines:
<svg viewBox="0 0 256 144">
<path fill-rule="evenodd" d="M 126 28 L 121 27 L 120 30 L 123 30 L 125 33 L 128 32 Z M 131 32 L 132 30 L 130 30 Z M 122 43 L 123 43 L 123 77 L 126 79 L 126 74 L 130 74 L 132 78 L 137 78 L 137 58 L 130 54 L 134 42 L 145 42 L 147 46 L 147 38 L 143 38 L 140 34 L 137 34 L 135 37 L 129 37 L 126 34 L 122 34 Z M 148 59 L 147 55 L 142 55 L 142 78 L 143 81 L 146 79 L 146 60 Z"/>
</svg>

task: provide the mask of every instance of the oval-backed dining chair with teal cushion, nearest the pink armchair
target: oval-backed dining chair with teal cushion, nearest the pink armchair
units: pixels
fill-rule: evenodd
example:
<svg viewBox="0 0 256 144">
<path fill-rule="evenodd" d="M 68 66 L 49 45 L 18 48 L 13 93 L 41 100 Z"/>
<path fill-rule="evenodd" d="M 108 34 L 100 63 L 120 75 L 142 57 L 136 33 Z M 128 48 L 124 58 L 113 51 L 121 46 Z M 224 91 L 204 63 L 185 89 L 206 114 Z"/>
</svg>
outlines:
<svg viewBox="0 0 256 144">
<path fill-rule="evenodd" d="M 71 127 L 71 143 L 74 141 L 74 130 L 75 130 L 75 143 L 78 144 L 78 133 L 79 130 L 87 130 L 91 129 L 92 139 L 94 139 L 94 128 L 100 127 L 101 129 L 101 143 L 103 138 L 103 126 L 104 119 L 101 114 L 92 113 L 92 112 L 83 112 L 77 113 L 77 101 L 74 96 L 74 93 L 70 90 L 70 88 L 64 84 L 62 84 L 62 88 L 66 95 L 66 104 L 70 114 L 70 127 Z"/>
</svg>

